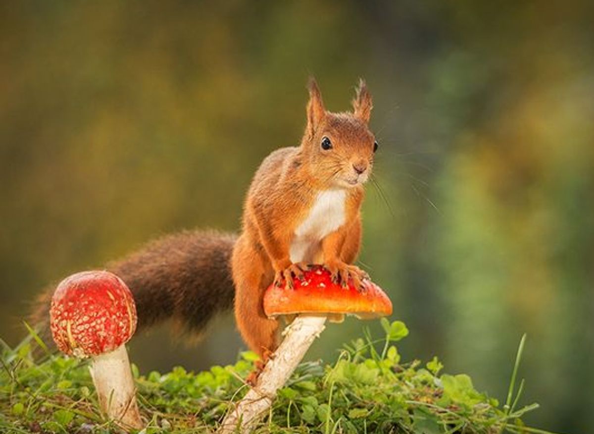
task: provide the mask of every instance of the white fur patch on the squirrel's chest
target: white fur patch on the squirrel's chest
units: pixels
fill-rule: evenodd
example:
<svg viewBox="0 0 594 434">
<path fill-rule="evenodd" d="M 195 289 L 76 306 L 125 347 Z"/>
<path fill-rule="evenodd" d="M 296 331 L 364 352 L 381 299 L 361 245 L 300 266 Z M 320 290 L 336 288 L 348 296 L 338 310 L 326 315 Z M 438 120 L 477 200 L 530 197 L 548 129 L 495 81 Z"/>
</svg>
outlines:
<svg viewBox="0 0 594 434">
<path fill-rule="evenodd" d="M 308 216 L 295 229 L 289 254 L 292 262 L 312 260 L 322 238 L 345 222 L 345 190 L 326 190 L 318 193 Z"/>
</svg>

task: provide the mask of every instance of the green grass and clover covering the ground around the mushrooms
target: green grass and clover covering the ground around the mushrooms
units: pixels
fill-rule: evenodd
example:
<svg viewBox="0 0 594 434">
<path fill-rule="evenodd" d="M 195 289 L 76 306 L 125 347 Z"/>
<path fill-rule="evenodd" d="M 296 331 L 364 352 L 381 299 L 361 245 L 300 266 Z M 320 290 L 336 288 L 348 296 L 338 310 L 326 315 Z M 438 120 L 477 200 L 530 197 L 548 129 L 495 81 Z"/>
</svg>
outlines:
<svg viewBox="0 0 594 434">
<path fill-rule="evenodd" d="M 385 336 L 344 345 L 333 364 L 302 363 L 279 391 L 261 433 L 546 433 L 524 426 L 521 417 L 538 404 L 519 407 L 516 390 L 520 349 L 505 405 L 475 390 L 467 375 L 442 374 L 437 359 L 403 362 L 395 342 L 408 334 L 402 322 L 382 322 Z M 30 331 L 16 348 L 2 342 L 0 432 L 115 432 L 97 406 L 87 362 L 50 354 Z M 45 356 L 34 360 L 33 348 Z M 36 348 L 39 350 L 39 348 Z M 253 353 L 237 363 L 205 372 L 176 367 L 169 373 L 132 372 L 138 387 L 146 433 L 202 433 L 216 429 L 229 408 L 247 391 L 243 378 Z"/>
</svg>

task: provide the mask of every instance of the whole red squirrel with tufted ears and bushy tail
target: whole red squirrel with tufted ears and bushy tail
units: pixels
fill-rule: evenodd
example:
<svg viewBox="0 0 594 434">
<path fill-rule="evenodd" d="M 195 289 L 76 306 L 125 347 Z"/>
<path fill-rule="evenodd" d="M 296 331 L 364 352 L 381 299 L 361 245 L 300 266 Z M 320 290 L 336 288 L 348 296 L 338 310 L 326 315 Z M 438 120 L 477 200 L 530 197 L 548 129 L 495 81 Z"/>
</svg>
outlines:
<svg viewBox="0 0 594 434">
<path fill-rule="evenodd" d="M 363 185 L 378 144 L 369 131 L 371 95 L 363 80 L 353 112 L 326 111 L 315 80 L 309 81 L 307 126 L 298 147 L 277 149 L 254 175 L 237 238 L 216 231 L 188 231 L 153 241 L 106 269 L 134 295 L 138 329 L 174 319 L 202 332 L 217 313 L 235 306 L 248 347 L 266 356 L 279 344 L 279 323 L 263 310 L 274 282 L 292 290 L 309 263 L 333 279 L 361 288 L 366 273 L 352 265 L 361 244 Z M 40 294 L 31 320 L 47 329 L 53 288 Z"/>
</svg>

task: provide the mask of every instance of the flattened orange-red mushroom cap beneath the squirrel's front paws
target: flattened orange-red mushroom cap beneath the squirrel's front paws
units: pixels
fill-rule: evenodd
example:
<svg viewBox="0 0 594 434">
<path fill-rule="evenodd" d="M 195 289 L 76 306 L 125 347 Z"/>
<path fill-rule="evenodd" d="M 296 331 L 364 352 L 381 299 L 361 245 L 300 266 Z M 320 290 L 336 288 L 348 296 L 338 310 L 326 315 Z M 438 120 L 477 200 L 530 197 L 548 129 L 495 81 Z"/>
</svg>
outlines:
<svg viewBox="0 0 594 434">
<path fill-rule="evenodd" d="M 293 290 L 273 285 L 264 294 L 267 316 L 296 313 L 350 314 L 362 319 L 391 315 L 392 303 L 380 287 L 365 280 L 364 290 L 356 290 L 349 279 L 346 288 L 332 282 L 330 272 L 314 266 L 304 272 L 304 280 L 293 279 Z"/>
</svg>

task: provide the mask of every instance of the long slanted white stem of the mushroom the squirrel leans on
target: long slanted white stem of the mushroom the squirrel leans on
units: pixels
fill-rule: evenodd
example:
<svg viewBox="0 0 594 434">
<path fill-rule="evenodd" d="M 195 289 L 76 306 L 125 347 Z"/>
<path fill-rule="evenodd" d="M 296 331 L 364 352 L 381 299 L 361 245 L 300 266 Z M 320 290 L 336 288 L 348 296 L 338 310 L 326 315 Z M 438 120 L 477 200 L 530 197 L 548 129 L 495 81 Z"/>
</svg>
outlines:
<svg viewBox="0 0 594 434">
<path fill-rule="evenodd" d="M 276 391 L 285 385 L 314 339 L 324 331 L 326 316 L 298 316 L 285 329 L 285 339 L 258 376 L 254 388 L 223 420 L 218 432 L 248 433 L 272 405 Z"/>
</svg>

